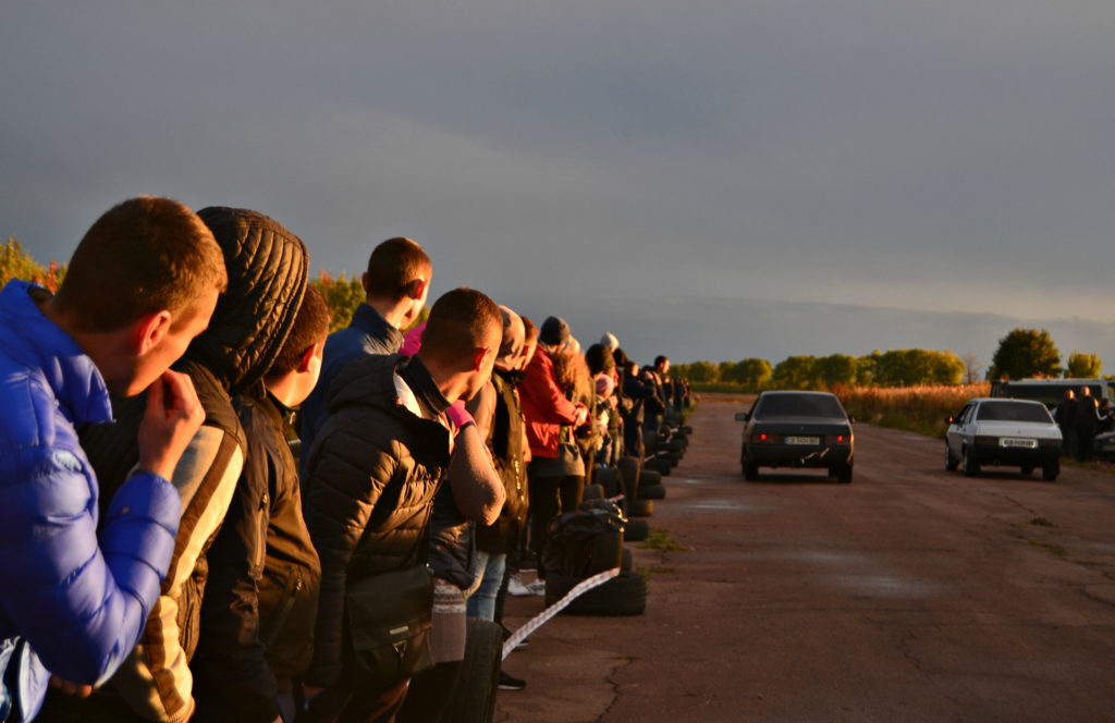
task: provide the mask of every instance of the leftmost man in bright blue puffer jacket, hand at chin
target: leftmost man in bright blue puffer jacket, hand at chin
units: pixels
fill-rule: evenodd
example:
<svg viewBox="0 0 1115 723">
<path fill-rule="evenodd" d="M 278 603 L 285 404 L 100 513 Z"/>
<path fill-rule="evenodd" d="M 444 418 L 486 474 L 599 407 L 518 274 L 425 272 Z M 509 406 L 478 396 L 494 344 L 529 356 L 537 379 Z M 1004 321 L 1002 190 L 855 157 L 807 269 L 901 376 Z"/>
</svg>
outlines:
<svg viewBox="0 0 1115 723">
<path fill-rule="evenodd" d="M 88 695 L 138 640 L 178 529 L 169 479 L 204 416 L 168 367 L 226 282 L 205 224 L 140 196 L 94 223 L 57 295 L 16 280 L 0 292 L 0 720 L 32 720 L 51 674 Z M 77 426 L 109 422 L 109 394 L 145 389 L 138 461 L 99 520 Z"/>
</svg>

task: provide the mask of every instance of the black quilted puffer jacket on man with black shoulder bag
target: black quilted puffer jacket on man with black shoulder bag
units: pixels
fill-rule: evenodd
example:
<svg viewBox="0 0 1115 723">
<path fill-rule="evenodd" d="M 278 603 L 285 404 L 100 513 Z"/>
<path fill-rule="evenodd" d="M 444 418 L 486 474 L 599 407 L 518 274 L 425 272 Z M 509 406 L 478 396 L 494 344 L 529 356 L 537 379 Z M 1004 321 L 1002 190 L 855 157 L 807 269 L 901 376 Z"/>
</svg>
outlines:
<svg viewBox="0 0 1115 723">
<path fill-rule="evenodd" d="M 308 452 L 306 522 L 321 557 L 310 685 L 341 676 L 346 586 L 426 561 L 449 431 L 400 398 L 396 370 L 404 364 L 392 355 L 346 366 L 330 385 L 330 415 Z"/>
</svg>

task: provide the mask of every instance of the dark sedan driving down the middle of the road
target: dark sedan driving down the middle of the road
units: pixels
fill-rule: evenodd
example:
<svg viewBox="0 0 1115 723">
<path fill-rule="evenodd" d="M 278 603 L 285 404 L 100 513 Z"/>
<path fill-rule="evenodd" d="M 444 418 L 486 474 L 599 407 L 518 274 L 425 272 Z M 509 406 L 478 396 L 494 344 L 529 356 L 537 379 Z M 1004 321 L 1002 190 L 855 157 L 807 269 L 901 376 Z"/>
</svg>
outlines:
<svg viewBox="0 0 1115 723">
<path fill-rule="evenodd" d="M 855 440 L 852 422 L 835 395 L 826 392 L 764 392 L 744 425 L 739 462 L 747 480 L 760 466 L 824 467 L 837 481 L 852 481 Z"/>
</svg>

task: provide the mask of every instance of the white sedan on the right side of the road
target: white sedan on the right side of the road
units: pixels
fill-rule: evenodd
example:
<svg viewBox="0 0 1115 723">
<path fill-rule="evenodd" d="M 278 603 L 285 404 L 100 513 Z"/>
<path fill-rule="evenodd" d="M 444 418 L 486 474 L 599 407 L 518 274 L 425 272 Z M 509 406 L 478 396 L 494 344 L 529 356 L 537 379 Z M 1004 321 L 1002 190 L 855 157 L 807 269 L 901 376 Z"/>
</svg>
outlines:
<svg viewBox="0 0 1115 723">
<path fill-rule="evenodd" d="M 949 417 L 944 469 L 977 474 L 983 465 L 1017 466 L 1022 474 L 1041 467 L 1041 478 L 1060 473 L 1060 430 L 1040 402 L 971 399 Z"/>
</svg>

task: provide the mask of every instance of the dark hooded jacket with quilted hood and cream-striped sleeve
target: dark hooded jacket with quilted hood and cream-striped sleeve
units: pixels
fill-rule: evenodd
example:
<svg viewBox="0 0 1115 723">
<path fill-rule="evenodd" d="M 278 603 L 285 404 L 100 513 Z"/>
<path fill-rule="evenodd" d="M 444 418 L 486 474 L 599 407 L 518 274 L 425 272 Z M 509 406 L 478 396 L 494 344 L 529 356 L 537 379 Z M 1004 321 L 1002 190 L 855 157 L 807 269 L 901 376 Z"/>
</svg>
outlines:
<svg viewBox="0 0 1115 723">
<path fill-rule="evenodd" d="M 302 241 L 272 219 L 227 208 L 203 209 L 197 215 L 224 251 L 229 289 L 209 328 L 174 368 L 193 379 L 205 422 L 174 471 L 182 518 L 162 595 L 139 645 L 112 679 L 134 717 L 169 723 L 187 721 L 194 712 L 188 663 L 197 645 L 209 576 L 205 552 L 229 509 L 248 449 L 230 394 L 252 388 L 266 374 L 293 325 L 309 272 Z M 143 401 L 137 398 L 122 409 L 116 424 L 83 433 L 101 480 L 118 485 L 135 463 L 142 413 Z M 90 720 L 80 701 L 60 698 L 56 720 Z M 96 707 L 105 707 L 104 702 Z M 101 720 L 125 716 L 122 710 Z"/>
</svg>

